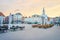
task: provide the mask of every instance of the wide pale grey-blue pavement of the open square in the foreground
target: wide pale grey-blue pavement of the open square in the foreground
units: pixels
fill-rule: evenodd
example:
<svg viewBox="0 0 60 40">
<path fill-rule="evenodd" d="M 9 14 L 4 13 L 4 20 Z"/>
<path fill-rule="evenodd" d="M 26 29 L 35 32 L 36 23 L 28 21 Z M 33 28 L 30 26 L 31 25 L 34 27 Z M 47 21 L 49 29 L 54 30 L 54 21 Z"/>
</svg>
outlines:
<svg viewBox="0 0 60 40">
<path fill-rule="evenodd" d="M 60 27 L 42 29 L 27 26 L 24 30 L 1 33 L 0 40 L 60 40 Z"/>
</svg>

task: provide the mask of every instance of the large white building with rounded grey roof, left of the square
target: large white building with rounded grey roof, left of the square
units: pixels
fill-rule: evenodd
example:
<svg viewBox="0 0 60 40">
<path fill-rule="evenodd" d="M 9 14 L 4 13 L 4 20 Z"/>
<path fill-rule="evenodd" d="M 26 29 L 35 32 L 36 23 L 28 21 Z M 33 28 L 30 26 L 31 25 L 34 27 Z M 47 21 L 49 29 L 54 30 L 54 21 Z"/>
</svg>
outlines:
<svg viewBox="0 0 60 40">
<path fill-rule="evenodd" d="M 13 25 L 18 25 L 21 24 L 23 19 L 22 19 L 22 14 L 21 13 L 16 13 L 16 14 L 11 14 L 9 15 L 9 28 L 12 27 Z"/>
</svg>

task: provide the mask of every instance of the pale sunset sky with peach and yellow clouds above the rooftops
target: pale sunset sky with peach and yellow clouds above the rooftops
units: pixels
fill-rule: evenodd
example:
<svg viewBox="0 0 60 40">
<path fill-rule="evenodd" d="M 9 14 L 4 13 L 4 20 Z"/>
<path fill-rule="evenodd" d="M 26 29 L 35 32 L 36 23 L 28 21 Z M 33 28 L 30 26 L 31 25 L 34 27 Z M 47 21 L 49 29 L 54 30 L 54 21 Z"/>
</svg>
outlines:
<svg viewBox="0 0 60 40">
<path fill-rule="evenodd" d="M 60 0 L 0 0 L 0 12 L 5 16 L 20 12 L 23 16 L 42 14 L 42 9 L 49 17 L 60 16 Z"/>
</svg>

